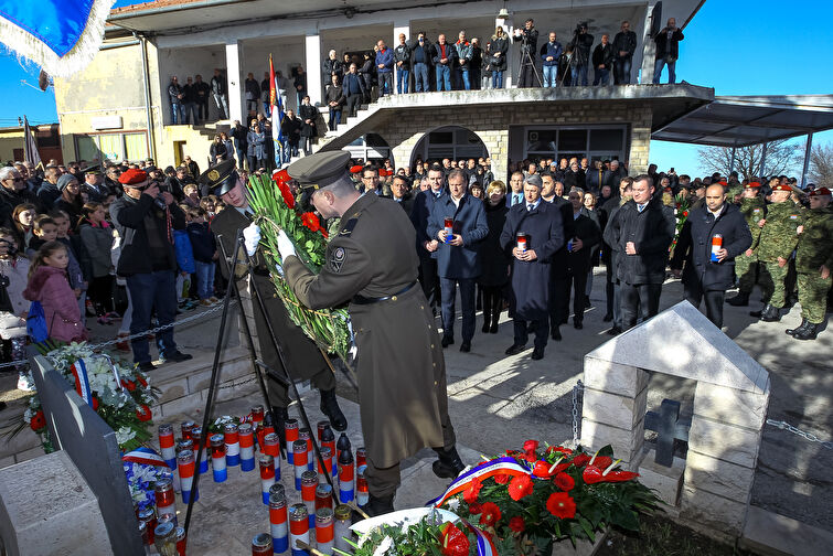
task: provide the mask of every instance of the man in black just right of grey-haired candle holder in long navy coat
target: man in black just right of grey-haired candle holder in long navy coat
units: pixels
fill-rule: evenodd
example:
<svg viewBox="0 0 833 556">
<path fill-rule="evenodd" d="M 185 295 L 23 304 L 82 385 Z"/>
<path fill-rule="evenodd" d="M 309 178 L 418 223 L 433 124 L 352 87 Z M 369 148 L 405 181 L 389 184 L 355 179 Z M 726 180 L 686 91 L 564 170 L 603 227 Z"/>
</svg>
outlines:
<svg viewBox="0 0 833 556">
<path fill-rule="evenodd" d="M 556 314 L 559 321 L 567 320 L 570 286 L 573 287 L 573 324 L 576 329 L 584 327 L 585 317 L 585 291 L 587 289 L 587 272 L 590 269 L 590 255 L 592 247 L 601 242 L 601 229 L 583 206 L 584 193 L 570 191 L 569 203 L 572 209 L 569 218 L 573 220 L 573 234 L 565 236 L 567 239 L 567 268 L 566 276 L 556 281 Z"/>
</svg>

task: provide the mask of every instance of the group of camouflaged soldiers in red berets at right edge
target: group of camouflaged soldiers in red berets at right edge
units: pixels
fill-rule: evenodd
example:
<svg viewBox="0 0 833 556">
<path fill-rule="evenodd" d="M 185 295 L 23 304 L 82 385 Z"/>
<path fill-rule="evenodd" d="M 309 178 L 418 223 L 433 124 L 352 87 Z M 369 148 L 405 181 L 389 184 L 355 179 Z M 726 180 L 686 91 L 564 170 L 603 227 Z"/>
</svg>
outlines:
<svg viewBox="0 0 833 556">
<path fill-rule="evenodd" d="M 769 186 L 767 203 L 759 182 L 744 185 L 740 211 L 752 234 L 752 245 L 735 260 L 739 291 L 727 302 L 749 304 L 757 281 L 763 308 L 749 314 L 776 322 L 798 286 L 801 324 L 786 332 L 798 340 L 815 340 L 824 322 L 833 268 L 831 191 L 811 191 L 808 209 L 802 204 L 802 193 L 778 178 L 770 180 Z"/>
</svg>

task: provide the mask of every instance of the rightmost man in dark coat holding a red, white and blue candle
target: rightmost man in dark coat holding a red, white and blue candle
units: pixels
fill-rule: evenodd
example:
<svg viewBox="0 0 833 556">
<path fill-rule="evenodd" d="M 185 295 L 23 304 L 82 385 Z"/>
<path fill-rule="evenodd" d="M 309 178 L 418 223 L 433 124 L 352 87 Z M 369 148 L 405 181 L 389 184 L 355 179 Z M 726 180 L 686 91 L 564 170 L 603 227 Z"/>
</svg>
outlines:
<svg viewBox="0 0 833 556">
<path fill-rule="evenodd" d="M 719 244 L 715 236 L 720 235 Z M 706 206 L 695 209 L 683 224 L 671 268 L 682 272 L 685 299 L 694 307 L 706 300 L 706 317 L 723 327 L 723 301 L 735 282 L 735 257 L 752 244 L 752 234 L 740 210 L 726 202 L 719 183 L 706 189 Z"/>
</svg>

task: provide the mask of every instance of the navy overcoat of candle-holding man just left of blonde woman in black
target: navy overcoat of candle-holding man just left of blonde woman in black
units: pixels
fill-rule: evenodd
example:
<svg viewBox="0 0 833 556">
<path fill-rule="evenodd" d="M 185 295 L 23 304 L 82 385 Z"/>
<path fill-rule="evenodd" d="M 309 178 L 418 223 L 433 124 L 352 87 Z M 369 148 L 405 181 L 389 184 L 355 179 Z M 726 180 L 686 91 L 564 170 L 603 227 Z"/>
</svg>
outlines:
<svg viewBox="0 0 833 556">
<path fill-rule="evenodd" d="M 453 233 L 462 237 L 462 245 L 440 244 L 437 249 L 437 274 L 455 280 L 477 278 L 481 271 L 478 244 L 489 233 L 483 202 L 466 194 L 459 205 L 455 205 L 451 195 L 446 193 L 434 204 L 428 221 L 428 237 L 437 238 L 446 218 L 453 220 Z"/>
</svg>

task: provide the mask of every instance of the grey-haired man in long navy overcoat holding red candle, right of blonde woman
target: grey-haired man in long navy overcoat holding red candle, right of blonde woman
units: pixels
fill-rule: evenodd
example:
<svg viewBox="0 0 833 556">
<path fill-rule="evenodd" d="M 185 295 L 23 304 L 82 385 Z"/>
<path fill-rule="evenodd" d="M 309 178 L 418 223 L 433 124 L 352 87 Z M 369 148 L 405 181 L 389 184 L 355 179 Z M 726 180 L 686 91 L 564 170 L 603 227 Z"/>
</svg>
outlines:
<svg viewBox="0 0 833 556">
<path fill-rule="evenodd" d="M 524 202 L 512 206 L 501 232 L 501 247 L 512 256 L 509 311 L 514 324 L 514 342 L 506 355 L 524 351 L 527 323 L 535 330 L 533 360 L 544 357 L 549 333 L 549 280 L 552 257 L 564 245 L 564 225 L 556 206 L 541 199 L 541 177 L 532 174 L 524 183 Z M 523 236 L 519 240 L 519 234 Z"/>
</svg>

